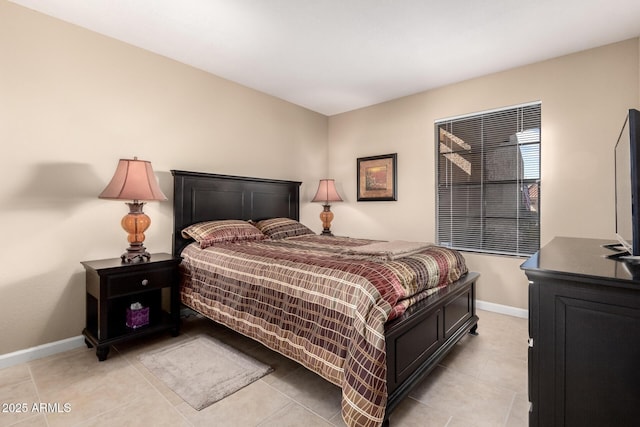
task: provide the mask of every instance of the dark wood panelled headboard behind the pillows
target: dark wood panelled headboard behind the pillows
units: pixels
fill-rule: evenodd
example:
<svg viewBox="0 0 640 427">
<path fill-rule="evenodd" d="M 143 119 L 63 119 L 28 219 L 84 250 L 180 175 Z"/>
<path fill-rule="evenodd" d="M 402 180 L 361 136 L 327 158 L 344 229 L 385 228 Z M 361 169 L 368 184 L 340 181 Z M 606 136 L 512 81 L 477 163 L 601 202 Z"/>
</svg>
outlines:
<svg viewBox="0 0 640 427">
<path fill-rule="evenodd" d="M 300 220 L 301 182 L 179 170 L 171 174 L 174 255 L 191 242 L 180 231 L 197 222 L 275 217 Z"/>
</svg>

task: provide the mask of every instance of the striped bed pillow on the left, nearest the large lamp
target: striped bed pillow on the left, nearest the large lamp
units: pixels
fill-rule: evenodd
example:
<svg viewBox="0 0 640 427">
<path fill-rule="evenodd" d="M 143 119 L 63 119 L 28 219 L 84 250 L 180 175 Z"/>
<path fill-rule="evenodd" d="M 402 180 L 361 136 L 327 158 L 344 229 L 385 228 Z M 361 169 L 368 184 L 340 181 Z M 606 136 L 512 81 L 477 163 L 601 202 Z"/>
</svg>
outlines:
<svg viewBox="0 0 640 427">
<path fill-rule="evenodd" d="M 194 239 L 204 249 L 215 243 L 262 240 L 267 236 L 246 221 L 225 219 L 192 224 L 182 230 L 182 237 Z"/>
</svg>

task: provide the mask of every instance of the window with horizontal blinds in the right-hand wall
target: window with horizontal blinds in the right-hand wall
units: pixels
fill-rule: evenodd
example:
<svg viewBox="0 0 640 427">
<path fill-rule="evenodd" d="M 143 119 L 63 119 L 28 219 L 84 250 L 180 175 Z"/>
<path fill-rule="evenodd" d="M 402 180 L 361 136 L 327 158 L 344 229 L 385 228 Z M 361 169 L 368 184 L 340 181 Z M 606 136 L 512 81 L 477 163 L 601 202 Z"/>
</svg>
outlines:
<svg viewBox="0 0 640 427">
<path fill-rule="evenodd" d="M 540 248 L 539 102 L 437 121 L 437 240 L 525 256 Z"/>
</svg>

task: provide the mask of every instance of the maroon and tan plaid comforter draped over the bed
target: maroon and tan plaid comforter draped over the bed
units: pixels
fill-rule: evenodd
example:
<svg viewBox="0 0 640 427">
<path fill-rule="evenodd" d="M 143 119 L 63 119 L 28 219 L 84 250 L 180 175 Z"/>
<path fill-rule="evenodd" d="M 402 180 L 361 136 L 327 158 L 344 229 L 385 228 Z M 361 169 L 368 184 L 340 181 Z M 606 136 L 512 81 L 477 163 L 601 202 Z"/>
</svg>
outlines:
<svg viewBox="0 0 640 427">
<path fill-rule="evenodd" d="M 467 268 L 437 246 L 393 261 L 345 251 L 371 242 L 306 235 L 192 244 L 182 253 L 181 299 L 341 387 L 347 425 L 380 425 L 385 323 Z"/>
</svg>

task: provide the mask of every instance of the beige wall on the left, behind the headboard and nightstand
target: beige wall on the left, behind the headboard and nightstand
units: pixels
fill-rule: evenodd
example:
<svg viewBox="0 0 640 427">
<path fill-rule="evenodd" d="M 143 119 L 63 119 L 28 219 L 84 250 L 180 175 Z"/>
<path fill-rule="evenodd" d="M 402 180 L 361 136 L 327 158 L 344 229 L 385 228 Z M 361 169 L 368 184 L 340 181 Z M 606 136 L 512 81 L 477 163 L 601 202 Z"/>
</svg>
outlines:
<svg viewBox="0 0 640 427">
<path fill-rule="evenodd" d="M 169 197 L 185 169 L 300 180 L 309 200 L 326 140 L 323 115 L 0 0 L 0 355 L 82 331 L 80 261 L 127 246 L 126 206 L 97 198 L 119 158 L 150 160 Z M 170 252 L 171 201 L 145 211 L 147 248 Z"/>
</svg>

